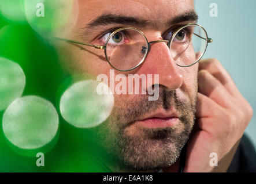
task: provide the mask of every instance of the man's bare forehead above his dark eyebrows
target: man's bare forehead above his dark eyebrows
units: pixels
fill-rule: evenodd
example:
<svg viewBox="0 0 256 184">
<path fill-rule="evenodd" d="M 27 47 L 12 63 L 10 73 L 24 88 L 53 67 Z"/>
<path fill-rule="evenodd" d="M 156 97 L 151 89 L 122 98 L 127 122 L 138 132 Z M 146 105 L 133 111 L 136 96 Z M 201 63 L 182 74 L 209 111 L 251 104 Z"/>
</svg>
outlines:
<svg viewBox="0 0 256 184">
<path fill-rule="evenodd" d="M 193 0 L 77 0 L 77 2 L 79 23 L 86 23 L 107 13 L 164 22 L 194 10 Z"/>
</svg>

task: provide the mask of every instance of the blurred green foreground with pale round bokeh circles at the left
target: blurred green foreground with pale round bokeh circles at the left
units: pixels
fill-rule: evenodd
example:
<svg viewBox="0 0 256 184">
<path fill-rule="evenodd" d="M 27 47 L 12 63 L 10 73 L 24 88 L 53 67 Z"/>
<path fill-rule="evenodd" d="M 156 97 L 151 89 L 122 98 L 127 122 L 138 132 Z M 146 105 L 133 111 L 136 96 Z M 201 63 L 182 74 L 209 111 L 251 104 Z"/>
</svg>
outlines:
<svg viewBox="0 0 256 184">
<path fill-rule="evenodd" d="M 65 24 L 71 7 L 69 0 L 0 1 L 0 172 L 110 171 L 90 127 L 109 116 L 113 97 L 81 93 L 94 82 L 72 86 L 43 39 Z"/>
</svg>

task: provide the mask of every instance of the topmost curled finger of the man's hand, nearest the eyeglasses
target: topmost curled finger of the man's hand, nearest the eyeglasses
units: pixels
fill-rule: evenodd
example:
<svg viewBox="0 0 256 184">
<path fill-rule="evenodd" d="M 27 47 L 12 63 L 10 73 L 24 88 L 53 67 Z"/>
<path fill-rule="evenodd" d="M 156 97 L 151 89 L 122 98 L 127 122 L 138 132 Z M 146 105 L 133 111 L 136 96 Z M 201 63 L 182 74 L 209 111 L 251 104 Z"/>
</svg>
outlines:
<svg viewBox="0 0 256 184">
<path fill-rule="evenodd" d="M 210 74 L 222 83 L 231 95 L 235 96 L 236 94 L 240 94 L 235 82 L 217 59 L 199 61 L 199 70 L 209 71 Z"/>
</svg>

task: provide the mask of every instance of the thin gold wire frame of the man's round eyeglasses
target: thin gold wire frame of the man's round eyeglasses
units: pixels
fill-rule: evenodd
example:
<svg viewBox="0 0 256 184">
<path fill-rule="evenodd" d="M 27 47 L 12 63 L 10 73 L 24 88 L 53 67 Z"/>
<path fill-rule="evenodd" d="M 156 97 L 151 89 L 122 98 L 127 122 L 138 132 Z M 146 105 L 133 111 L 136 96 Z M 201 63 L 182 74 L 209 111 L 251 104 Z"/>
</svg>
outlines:
<svg viewBox="0 0 256 184">
<path fill-rule="evenodd" d="M 193 33 L 193 34 L 195 34 L 195 35 L 198 36 L 198 37 L 201 37 L 201 39 L 203 39 L 203 40 L 207 40 L 207 44 L 206 44 L 206 47 L 205 47 L 205 51 L 206 51 L 207 46 L 208 46 L 208 43 L 212 43 L 212 42 L 213 42 L 213 39 L 211 39 L 211 38 L 208 37 L 207 32 L 206 32 L 205 28 L 203 28 L 203 26 L 201 26 L 201 25 L 199 25 L 199 24 L 191 24 L 191 23 L 190 23 L 190 24 L 185 24 L 185 25 L 181 26 L 179 29 L 177 29 L 177 30 L 175 31 L 175 33 L 172 34 L 172 37 L 170 38 L 170 40 L 156 40 L 156 41 L 150 41 L 150 42 L 149 42 L 149 41 L 147 40 L 146 35 L 145 35 L 141 30 L 139 30 L 139 29 L 137 29 L 137 28 L 132 28 L 132 27 L 123 27 L 123 28 L 119 28 L 119 29 L 115 30 L 113 33 L 111 33 L 111 34 L 109 35 L 109 37 L 107 37 L 107 40 L 106 40 L 106 44 L 105 44 L 105 45 L 92 45 L 92 44 L 82 43 L 82 42 L 80 42 L 80 41 L 73 41 L 73 40 L 68 40 L 68 39 L 62 39 L 62 38 L 59 38 L 59 37 L 55 37 L 55 39 L 62 40 L 62 41 L 68 41 L 68 42 L 70 42 L 70 43 L 75 43 L 75 44 L 86 45 L 86 46 L 94 47 L 94 48 L 96 48 L 96 49 L 104 49 L 104 50 L 105 50 L 104 52 L 105 52 L 105 57 L 106 57 L 107 63 L 109 63 L 109 65 L 110 65 L 111 67 L 113 67 L 114 69 L 116 69 L 116 70 L 118 70 L 118 71 L 131 71 L 131 70 L 134 70 L 135 68 L 139 67 L 139 66 L 146 60 L 147 54 L 148 54 L 149 51 L 150 51 L 150 45 L 151 45 L 151 44 L 153 44 L 153 43 L 166 42 L 167 45 L 168 45 L 168 47 L 169 47 L 169 49 L 170 49 L 170 44 L 172 43 L 172 40 L 173 40 L 173 38 L 174 38 L 173 36 L 174 36 L 174 35 L 176 36 L 176 34 L 179 33 L 181 29 L 184 29 L 185 27 L 191 26 L 191 25 L 199 26 L 199 27 L 202 28 L 203 31 L 205 32 L 205 34 L 206 34 L 206 39 L 203 38 L 203 37 L 201 37 L 201 36 L 199 36 L 198 34 L 195 34 L 195 33 Z M 106 53 L 107 44 L 108 44 L 110 38 L 111 38 L 112 36 L 114 36 L 114 34 L 116 34 L 117 32 L 119 32 L 120 30 L 124 30 L 124 29 L 133 29 L 133 30 L 138 31 L 139 33 L 141 33 L 141 34 L 144 36 L 144 38 L 145 38 L 145 40 L 146 40 L 146 43 L 147 43 L 147 51 L 146 51 L 146 54 L 144 55 L 143 59 L 142 59 L 135 67 L 130 68 L 130 69 L 128 69 L 128 70 L 120 70 L 120 69 L 114 67 L 114 66 L 109 62 L 109 59 L 107 58 L 107 53 Z M 199 60 L 200 60 L 200 59 L 203 57 L 203 55 L 205 54 L 205 51 L 203 52 L 202 56 L 199 57 L 199 59 L 198 59 L 195 63 L 192 63 L 192 64 L 190 64 L 190 65 L 188 65 L 188 66 L 181 66 L 180 64 L 177 64 L 177 63 L 176 63 L 176 64 L 177 64 L 177 66 L 180 66 L 180 67 L 190 67 L 190 66 L 196 64 L 197 62 L 199 62 Z"/>
</svg>

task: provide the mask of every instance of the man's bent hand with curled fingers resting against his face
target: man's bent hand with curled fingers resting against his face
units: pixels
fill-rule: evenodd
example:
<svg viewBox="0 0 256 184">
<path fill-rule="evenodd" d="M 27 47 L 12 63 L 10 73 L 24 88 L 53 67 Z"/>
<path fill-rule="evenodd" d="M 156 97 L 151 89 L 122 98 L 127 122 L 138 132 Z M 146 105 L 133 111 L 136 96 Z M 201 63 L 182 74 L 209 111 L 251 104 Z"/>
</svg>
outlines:
<svg viewBox="0 0 256 184">
<path fill-rule="evenodd" d="M 226 172 L 253 116 L 231 76 L 216 59 L 199 62 L 196 121 L 184 172 Z M 218 166 L 210 166 L 216 152 Z"/>
</svg>

